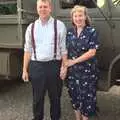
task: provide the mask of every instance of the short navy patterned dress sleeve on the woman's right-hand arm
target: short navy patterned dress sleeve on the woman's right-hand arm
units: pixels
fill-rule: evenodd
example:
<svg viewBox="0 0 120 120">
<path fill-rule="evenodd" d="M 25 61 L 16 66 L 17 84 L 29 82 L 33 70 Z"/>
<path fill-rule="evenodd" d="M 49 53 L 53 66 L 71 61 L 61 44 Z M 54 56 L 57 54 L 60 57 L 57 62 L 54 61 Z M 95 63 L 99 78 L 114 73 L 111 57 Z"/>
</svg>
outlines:
<svg viewBox="0 0 120 120">
<path fill-rule="evenodd" d="M 91 36 L 89 41 L 89 49 L 98 49 L 100 45 L 98 34 L 94 28 L 91 29 Z"/>
</svg>

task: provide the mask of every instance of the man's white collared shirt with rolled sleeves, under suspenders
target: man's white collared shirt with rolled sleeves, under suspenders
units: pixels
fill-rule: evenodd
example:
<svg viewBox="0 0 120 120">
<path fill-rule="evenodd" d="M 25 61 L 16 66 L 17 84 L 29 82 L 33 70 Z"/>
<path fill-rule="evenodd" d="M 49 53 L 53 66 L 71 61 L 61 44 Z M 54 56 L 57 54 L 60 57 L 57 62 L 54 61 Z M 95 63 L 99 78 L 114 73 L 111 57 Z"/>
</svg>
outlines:
<svg viewBox="0 0 120 120">
<path fill-rule="evenodd" d="M 27 27 L 25 34 L 25 47 L 24 51 L 31 53 L 31 60 L 35 60 L 34 51 L 32 47 L 32 24 Z M 50 17 L 49 20 L 42 25 L 40 18 L 34 23 L 34 39 L 36 46 L 37 61 L 50 61 L 54 58 L 54 18 Z M 60 60 L 61 57 L 67 53 L 66 50 L 66 27 L 60 20 L 57 20 L 57 55 L 56 59 Z"/>
</svg>

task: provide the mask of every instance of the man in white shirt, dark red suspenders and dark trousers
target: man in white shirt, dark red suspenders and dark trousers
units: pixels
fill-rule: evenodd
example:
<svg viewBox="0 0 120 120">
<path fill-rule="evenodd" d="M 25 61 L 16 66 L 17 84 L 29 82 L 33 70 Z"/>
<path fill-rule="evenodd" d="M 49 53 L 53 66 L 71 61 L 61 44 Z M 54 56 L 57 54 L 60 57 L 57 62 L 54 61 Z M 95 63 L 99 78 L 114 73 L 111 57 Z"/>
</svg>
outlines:
<svg viewBox="0 0 120 120">
<path fill-rule="evenodd" d="M 30 79 L 32 84 L 33 120 L 44 119 L 44 96 L 46 90 L 50 98 L 51 120 L 60 119 L 62 90 L 60 69 L 61 60 L 62 65 L 66 61 L 66 28 L 61 21 L 57 20 L 57 34 L 55 35 L 55 20 L 51 16 L 51 7 L 51 0 L 37 1 L 39 18 L 34 22 L 34 27 L 33 24 L 28 26 L 25 35 L 22 78 L 23 80 Z M 56 42 L 54 40 L 55 36 L 57 36 Z"/>
</svg>

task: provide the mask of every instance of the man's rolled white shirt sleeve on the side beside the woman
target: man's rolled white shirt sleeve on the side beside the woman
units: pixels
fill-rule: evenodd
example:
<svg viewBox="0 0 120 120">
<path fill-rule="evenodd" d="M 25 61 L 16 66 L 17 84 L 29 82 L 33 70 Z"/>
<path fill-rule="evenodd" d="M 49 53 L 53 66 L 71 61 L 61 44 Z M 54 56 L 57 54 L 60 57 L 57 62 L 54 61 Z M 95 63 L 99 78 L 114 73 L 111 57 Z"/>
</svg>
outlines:
<svg viewBox="0 0 120 120">
<path fill-rule="evenodd" d="M 67 49 L 66 49 L 66 27 L 63 23 L 60 25 L 61 32 L 60 32 L 60 50 L 61 50 L 61 55 L 67 54 Z"/>
</svg>

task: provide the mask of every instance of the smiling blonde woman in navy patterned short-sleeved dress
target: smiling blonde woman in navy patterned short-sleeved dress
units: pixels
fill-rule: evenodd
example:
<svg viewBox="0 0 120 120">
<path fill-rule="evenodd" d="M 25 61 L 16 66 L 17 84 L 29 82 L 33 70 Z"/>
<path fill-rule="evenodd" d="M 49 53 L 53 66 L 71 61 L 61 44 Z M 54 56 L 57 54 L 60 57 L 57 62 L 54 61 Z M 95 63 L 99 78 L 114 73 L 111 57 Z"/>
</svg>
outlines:
<svg viewBox="0 0 120 120">
<path fill-rule="evenodd" d="M 73 27 L 67 32 L 68 88 L 76 120 L 88 120 L 96 111 L 95 58 L 99 42 L 96 30 L 90 26 L 87 8 L 76 5 L 71 11 Z"/>
</svg>

